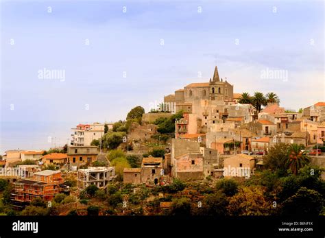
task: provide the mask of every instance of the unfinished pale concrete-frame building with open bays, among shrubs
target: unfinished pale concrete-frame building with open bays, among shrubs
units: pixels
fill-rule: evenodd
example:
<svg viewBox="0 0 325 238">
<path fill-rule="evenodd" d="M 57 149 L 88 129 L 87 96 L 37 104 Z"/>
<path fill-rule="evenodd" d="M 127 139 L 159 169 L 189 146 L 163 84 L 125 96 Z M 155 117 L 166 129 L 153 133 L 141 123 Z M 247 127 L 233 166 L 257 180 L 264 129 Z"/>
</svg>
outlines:
<svg viewBox="0 0 325 238">
<path fill-rule="evenodd" d="M 116 178 L 115 167 L 88 167 L 77 171 L 77 187 L 79 191 L 90 185 L 105 189 Z"/>
</svg>

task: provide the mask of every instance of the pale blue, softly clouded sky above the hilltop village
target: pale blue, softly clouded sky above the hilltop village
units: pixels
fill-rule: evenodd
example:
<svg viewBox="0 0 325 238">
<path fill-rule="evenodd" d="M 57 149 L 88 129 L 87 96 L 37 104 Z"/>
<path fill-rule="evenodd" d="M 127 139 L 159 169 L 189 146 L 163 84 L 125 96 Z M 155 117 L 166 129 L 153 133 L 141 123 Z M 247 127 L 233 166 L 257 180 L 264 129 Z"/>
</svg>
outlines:
<svg viewBox="0 0 325 238">
<path fill-rule="evenodd" d="M 324 1 L 0 7 L 0 153 L 63 144 L 77 123 L 125 119 L 134 106 L 148 111 L 164 95 L 208 82 L 215 65 L 235 93 L 272 91 L 295 110 L 325 102 Z M 42 77 L 47 70 L 62 77 Z"/>
</svg>

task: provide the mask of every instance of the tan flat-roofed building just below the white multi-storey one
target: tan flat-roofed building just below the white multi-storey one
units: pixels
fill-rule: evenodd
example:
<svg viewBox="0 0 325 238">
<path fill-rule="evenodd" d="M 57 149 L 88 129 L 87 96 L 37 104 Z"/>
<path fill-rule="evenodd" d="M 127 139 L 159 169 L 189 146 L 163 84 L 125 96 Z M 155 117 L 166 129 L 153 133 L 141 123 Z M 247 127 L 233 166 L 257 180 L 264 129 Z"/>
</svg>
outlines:
<svg viewBox="0 0 325 238">
<path fill-rule="evenodd" d="M 68 163 L 70 165 L 85 165 L 93 163 L 98 155 L 97 146 L 69 146 Z"/>
</svg>

